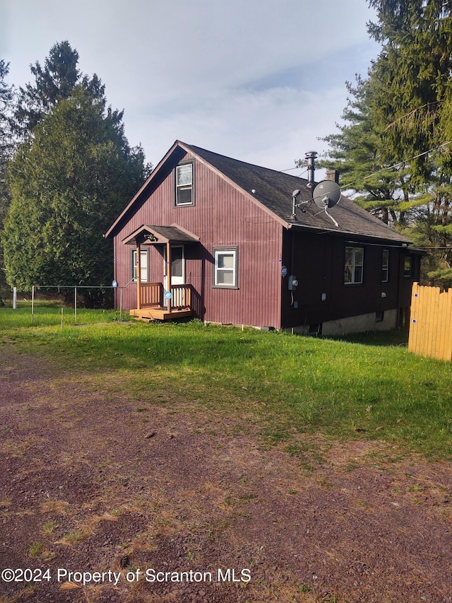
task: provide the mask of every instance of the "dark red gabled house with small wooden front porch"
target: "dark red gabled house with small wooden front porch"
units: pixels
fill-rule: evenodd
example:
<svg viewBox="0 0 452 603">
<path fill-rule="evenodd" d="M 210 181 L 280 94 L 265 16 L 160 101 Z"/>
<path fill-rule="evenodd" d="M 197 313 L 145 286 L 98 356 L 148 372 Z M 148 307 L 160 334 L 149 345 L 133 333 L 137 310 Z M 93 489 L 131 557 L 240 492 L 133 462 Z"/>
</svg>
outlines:
<svg viewBox="0 0 452 603">
<path fill-rule="evenodd" d="M 313 164 L 305 180 L 174 142 L 105 234 L 117 305 L 306 334 L 402 326 L 420 252 L 344 196 L 320 209 Z"/>
</svg>

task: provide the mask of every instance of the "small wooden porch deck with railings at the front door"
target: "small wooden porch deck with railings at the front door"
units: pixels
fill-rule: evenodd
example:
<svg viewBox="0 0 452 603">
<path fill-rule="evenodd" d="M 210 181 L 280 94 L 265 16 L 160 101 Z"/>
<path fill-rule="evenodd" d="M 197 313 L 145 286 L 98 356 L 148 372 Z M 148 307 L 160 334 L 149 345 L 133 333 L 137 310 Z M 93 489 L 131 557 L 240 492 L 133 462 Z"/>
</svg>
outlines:
<svg viewBox="0 0 452 603">
<path fill-rule="evenodd" d="M 172 285 L 171 299 L 165 300 L 162 283 L 137 283 L 138 308 L 129 314 L 140 320 L 177 320 L 193 315 L 191 285 Z"/>
</svg>

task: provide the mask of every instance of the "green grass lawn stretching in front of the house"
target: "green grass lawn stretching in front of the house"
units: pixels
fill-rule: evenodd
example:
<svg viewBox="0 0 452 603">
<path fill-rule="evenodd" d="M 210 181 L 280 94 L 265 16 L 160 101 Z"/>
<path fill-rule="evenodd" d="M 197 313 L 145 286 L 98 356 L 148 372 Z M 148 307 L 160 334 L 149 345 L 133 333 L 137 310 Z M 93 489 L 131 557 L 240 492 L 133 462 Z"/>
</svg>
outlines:
<svg viewBox="0 0 452 603">
<path fill-rule="evenodd" d="M 451 458 L 452 363 L 408 353 L 406 334 L 314 339 L 199 321 L 124 323 L 102 310 L 78 310 L 77 326 L 73 319 L 65 309 L 61 327 L 61 309 L 52 305 L 37 305 L 33 322 L 29 304 L 3 308 L 1 341 L 52 358 L 66 377 L 89 377 L 106 396 L 121 390 L 142 406 L 174 404 L 174 411 L 183 400 L 233 415 L 287 450 L 294 434 L 320 433 Z"/>
</svg>

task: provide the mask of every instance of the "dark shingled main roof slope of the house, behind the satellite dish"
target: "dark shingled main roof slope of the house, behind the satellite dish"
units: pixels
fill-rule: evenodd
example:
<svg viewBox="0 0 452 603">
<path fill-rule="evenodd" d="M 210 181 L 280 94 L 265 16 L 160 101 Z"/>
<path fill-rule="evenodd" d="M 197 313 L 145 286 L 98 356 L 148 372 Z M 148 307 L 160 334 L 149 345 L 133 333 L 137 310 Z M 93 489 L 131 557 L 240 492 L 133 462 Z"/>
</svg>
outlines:
<svg viewBox="0 0 452 603">
<path fill-rule="evenodd" d="M 326 213 L 311 200 L 311 189 L 307 187 L 307 180 L 304 178 L 261 168 L 258 165 L 206 151 L 198 146 L 182 144 L 217 168 L 244 191 L 251 194 L 254 190 L 253 197 L 287 222 L 290 228 L 330 230 L 349 235 L 382 238 L 399 244 L 412 242 L 345 196 L 341 197 L 337 205 L 328 209 L 328 213 L 339 225 L 336 227 Z M 301 191 L 299 201 L 306 201 L 301 209 L 297 209 L 296 221 L 292 219 L 292 192 L 295 189 Z"/>
</svg>

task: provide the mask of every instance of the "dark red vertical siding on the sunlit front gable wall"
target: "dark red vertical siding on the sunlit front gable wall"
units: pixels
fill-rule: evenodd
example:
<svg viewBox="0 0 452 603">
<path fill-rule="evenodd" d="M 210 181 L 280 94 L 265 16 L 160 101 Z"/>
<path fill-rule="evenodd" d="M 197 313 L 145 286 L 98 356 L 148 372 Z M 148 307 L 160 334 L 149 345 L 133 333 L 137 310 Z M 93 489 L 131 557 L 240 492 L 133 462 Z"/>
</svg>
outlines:
<svg viewBox="0 0 452 603">
<path fill-rule="evenodd" d="M 189 153 L 184 156 L 184 160 L 192 158 Z M 171 170 L 119 230 L 114 237 L 115 279 L 121 286 L 132 276 L 134 247 L 123 245 L 121 240 L 143 224 L 177 224 L 201 239 L 185 246 L 185 280 L 194 287 L 196 315 L 210 322 L 279 328 L 283 227 L 277 218 L 196 159 L 194 177 L 194 206 L 174 206 Z M 238 248 L 237 289 L 213 287 L 213 248 L 227 246 Z M 150 245 L 149 281 L 162 282 L 162 275 L 162 246 Z M 123 291 L 122 308 L 136 308 L 135 283 Z"/>
</svg>

